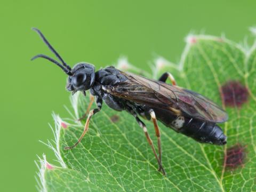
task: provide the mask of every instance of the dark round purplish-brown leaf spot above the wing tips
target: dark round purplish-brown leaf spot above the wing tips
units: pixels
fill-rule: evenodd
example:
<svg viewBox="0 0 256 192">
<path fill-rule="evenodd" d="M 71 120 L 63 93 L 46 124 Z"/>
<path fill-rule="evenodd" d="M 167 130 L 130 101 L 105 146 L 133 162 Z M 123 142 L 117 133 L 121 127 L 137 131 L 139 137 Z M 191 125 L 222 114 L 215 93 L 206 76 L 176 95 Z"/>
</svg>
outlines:
<svg viewBox="0 0 256 192">
<path fill-rule="evenodd" d="M 241 107 L 249 97 L 247 88 L 238 81 L 227 82 L 221 92 L 223 102 L 229 107 Z"/>
</svg>

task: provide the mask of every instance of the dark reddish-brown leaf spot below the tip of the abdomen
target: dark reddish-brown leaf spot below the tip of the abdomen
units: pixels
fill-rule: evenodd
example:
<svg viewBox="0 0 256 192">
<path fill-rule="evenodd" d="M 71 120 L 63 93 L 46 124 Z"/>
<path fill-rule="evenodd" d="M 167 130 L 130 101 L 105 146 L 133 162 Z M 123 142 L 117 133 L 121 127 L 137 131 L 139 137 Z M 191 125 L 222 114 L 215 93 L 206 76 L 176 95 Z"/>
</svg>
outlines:
<svg viewBox="0 0 256 192">
<path fill-rule="evenodd" d="M 237 143 L 236 145 L 227 149 L 225 156 L 225 167 L 231 170 L 239 166 L 243 166 L 246 158 L 246 146 Z"/>
</svg>

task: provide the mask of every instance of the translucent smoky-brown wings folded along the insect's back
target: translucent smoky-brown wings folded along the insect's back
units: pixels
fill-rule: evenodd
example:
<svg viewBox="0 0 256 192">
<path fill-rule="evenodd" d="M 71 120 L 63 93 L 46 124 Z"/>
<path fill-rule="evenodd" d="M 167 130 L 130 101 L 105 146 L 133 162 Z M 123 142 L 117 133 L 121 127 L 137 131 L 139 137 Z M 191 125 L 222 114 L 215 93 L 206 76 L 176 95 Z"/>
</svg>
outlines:
<svg viewBox="0 0 256 192">
<path fill-rule="evenodd" d="M 111 90 L 111 94 L 117 97 L 208 122 L 221 123 L 228 119 L 225 111 L 201 94 L 131 73 L 121 73 L 127 81 Z"/>
</svg>

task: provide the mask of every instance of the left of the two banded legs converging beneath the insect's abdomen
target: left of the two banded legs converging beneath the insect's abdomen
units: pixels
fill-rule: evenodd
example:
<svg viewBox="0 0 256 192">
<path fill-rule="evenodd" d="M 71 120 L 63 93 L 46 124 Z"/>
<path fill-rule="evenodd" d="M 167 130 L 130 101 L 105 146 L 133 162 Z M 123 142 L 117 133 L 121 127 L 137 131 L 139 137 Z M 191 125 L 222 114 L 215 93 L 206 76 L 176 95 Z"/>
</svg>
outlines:
<svg viewBox="0 0 256 192">
<path fill-rule="evenodd" d="M 163 168 L 162 163 L 161 163 L 161 161 L 159 160 L 159 158 L 158 158 L 158 156 L 157 156 L 157 154 L 156 154 L 156 149 L 155 149 L 155 147 L 154 147 L 154 143 L 153 143 L 153 141 L 151 140 L 151 138 L 150 138 L 150 136 L 149 136 L 149 134 L 148 134 L 148 130 L 147 130 L 146 125 L 140 120 L 140 118 L 138 117 L 137 113 L 135 113 L 135 111 L 130 110 L 130 113 L 135 117 L 136 121 L 138 122 L 138 124 L 140 125 L 140 127 L 143 129 L 143 131 L 144 131 L 144 133 L 145 133 L 145 136 L 146 136 L 146 138 L 147 138 L 147 141 L 148 141 L 149 145 L 151 146 L 151 148 L 152 148 L 152 150 L 153 150 L 153 153 L 154 153 L 154 155 L 155 155 L 155 157 L 156 157 L 156 160 L 157 160 L 157 162 L 158 162 L 158 166 L 159 166 L 158 171 L 161 171 L 161 170 L 162 170 L 163 175 L 165 175 L 164 168 Z"/>
</svg>

